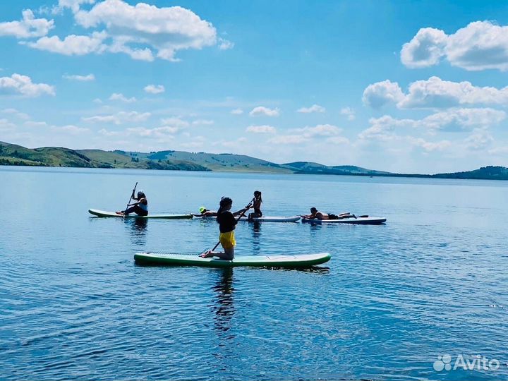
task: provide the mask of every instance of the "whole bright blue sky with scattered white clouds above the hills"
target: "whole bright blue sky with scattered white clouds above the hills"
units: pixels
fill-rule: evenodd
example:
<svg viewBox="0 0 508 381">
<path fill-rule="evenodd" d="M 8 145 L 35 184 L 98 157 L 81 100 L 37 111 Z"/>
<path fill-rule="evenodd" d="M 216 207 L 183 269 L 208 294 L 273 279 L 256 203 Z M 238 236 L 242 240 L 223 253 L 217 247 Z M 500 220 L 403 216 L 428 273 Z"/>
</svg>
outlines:
<svg viewBox="0 0 508 381">
<path fill-rule="evenodd" d="M 0 47 L 8 143 L 508 166 L 500 1 L 3 1 Z"/>
</svg>

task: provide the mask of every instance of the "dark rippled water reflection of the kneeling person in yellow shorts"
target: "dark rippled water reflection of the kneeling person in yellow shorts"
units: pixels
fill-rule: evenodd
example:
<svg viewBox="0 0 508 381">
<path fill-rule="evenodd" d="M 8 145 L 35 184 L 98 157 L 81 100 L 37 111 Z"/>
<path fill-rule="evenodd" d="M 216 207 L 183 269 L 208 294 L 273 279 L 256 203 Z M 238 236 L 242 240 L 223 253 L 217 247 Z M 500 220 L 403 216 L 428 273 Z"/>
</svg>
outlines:
<svg viewBox="0 0 508 381">
<path fill-rule="evenodd" d="M 228 332 L 231 329 L 231 319 L 235 314 L 233 300 L 233 269 L 225 268 L 217 270 L 219 279 L 212 290 L 216 293 L 217 301 L 214 303 L 215 329 L 220 332 Z"/>
</svg>

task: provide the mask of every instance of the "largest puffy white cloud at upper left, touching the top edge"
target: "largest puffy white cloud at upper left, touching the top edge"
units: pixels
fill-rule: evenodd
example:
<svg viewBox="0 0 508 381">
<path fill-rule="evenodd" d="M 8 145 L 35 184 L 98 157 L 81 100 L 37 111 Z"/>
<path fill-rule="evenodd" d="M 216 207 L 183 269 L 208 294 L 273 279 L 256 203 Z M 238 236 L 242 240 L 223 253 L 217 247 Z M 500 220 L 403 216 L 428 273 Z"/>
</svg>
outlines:
<svg viewBox="0 0 508 381">
<path fill-rule="evenodd" d="M 218 41 L 211 23 L 180 6 L 157 8 L 145 3 L 131 6 L 121 0 L 104 0 L 90 11 L 75 11 L 74 16 L 85 28 L 104 25 L 113 39 L 111 51 L 125 52 L 134 59 L 150 61 L 157 56 L 178 61 L 177 51 L 202 49 Z M 222 49 L 229 47 L 228 43 L 221 41 Z"/>
</svg>

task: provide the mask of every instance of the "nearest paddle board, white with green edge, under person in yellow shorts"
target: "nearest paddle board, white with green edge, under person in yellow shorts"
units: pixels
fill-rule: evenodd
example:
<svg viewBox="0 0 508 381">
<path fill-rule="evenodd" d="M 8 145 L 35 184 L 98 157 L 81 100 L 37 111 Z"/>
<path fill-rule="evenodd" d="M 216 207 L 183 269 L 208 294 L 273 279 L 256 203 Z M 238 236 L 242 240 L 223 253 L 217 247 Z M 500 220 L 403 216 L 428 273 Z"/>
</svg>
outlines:
<svg viewBox="0 0 508 381">
<path fill-rule="evenodd" d="M 202 267 L 312 267 L 328 262 L 329 253 L 304 255 L 238 255 L 233 260 L 200 258 L 197 254 L 135 253 L 139 265 L 202 266 Z"/>
</svg>

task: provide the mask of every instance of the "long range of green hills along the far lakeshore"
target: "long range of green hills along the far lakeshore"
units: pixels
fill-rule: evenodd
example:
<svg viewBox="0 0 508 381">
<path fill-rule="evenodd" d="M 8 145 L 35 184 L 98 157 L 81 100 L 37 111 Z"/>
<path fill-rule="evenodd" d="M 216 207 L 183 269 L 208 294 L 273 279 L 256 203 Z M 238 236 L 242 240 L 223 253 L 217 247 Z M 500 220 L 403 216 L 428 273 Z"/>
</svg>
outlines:
<svg viewBox="0 0 508 381">
<path fill-rule="evenodd" d="M 38 167 L 137 168 L 173 171 L 238 171 L 285 174 L 334 174 L 352 176 L 430 177 L 438 179 L 508 180 L 507 167 L 482 167 L 474 171 L 449 174 L 394 174 L 351 165 L 326 166 L 313 162 L 276 164 L 246 155 L 205 152 L 158 151 L 129 152 L 71 150 L 63 147 L 30 149 L 0 142 L 0 165 Z"/>
</svg>

